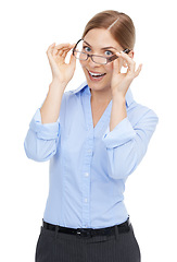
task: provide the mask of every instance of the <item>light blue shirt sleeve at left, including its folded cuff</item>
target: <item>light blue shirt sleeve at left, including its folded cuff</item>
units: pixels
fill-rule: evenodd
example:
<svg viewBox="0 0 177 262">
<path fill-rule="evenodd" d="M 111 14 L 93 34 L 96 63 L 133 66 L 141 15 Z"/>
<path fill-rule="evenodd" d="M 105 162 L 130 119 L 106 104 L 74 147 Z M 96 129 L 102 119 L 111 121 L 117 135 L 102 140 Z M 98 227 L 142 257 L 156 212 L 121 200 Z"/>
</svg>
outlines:
<svg viewBox="0 0 177 262">
<path fill-rule="evenodd" d="M 24 148 L 28 158 L 37 162 L 49 160 L 55 153 L 60 140 L 60 118 L 53 123 L 41 123 L 38 108 L 29 123 Z"/>
</svg>

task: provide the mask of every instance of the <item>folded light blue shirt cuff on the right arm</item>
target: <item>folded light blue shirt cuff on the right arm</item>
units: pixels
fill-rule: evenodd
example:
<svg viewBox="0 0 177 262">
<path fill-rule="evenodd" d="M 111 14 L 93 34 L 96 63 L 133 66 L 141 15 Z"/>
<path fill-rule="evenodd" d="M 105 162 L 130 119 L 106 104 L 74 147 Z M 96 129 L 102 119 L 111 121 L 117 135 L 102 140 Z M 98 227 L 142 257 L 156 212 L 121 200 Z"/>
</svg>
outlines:
<svg viewBox="0 0 177 262">
<path fill-rule="evenodd" d="M 108 148 L 113 148 L 127 143 L 134 139 L 136 131 L 134 130 L 128 118 L 125 118 L 111 132 L 110 127 L 108 127 L 102 141 Z"/>
</svg>

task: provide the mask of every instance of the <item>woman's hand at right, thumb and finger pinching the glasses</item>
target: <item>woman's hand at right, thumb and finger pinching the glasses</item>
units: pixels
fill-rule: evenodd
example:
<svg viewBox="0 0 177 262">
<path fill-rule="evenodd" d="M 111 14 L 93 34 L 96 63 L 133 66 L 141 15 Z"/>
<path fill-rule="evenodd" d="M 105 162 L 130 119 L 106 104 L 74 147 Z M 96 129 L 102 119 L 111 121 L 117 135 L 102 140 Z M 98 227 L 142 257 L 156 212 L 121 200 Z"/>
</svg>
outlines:
<svg viewBox="0 0 177 262">
<path fill-rule="evenodd" d="M 111 90 L 113 96 L 125 97 L 132 80 L 137 78 L 142 69 L 142 64 L 136 70 L 136 62 L 125 52 L 117 52 L 118 59 L 113 62 L 113 76 Z M 122 60 L 122 61 L 121 61 Z M 127 72 L 121 73 L 121 63 L 123 60 L 127 63 Z"/>
</svg>

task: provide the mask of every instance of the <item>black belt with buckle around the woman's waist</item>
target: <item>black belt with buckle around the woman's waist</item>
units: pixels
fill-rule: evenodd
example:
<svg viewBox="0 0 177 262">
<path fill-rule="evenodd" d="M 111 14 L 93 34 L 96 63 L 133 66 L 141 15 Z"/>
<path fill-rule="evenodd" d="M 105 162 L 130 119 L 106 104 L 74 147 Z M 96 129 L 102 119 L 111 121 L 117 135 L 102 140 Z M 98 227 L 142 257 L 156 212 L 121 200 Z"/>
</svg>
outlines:
<svg viewBox="0 0 177 262">
<path fill-rule="evenodd" d="M 128 233 L 130 230 L 131 223 L 128 217 L 128 219 L 123 224 L 115 225 L 112 227 L 98 228 L 98 229 L 61 227 L 58 225 L 52 225 L 45 221 L 42 221 L 42 226 L 43 228 L 55 231 L 55 233 L 77 235 L 79 237 L 93 237 L 93 236 L 111 236 L 111 235 L 115 235 L 115 231 L 117 231 L 118 234 Z"/>
</svg>

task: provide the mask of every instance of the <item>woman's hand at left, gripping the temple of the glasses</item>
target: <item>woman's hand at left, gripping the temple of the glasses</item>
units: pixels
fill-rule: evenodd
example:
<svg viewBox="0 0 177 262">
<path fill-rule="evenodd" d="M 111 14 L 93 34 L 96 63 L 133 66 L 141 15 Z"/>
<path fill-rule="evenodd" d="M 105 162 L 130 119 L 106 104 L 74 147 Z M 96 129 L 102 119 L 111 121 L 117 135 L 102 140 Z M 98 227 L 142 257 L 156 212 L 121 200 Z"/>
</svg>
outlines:
<svg viewBox="0 0 177 262">
<path fill-rule="evenodd" d="M 67 85 L 67 83 L 72 80 L 75 68 L 76 68 L 76 59 L 73 55 L 71 55 L 69 63 L 65 62 L 65 58 L 67 52 L 74 47 L 71 44 L 60 44 L 55 46 L 55 43 L 49 46 L 47 50 L 47 56 L 49 59 L 49 63 L 52 70 L 52 81 L 58 81 L 62 85 Z"/>
</svg>

